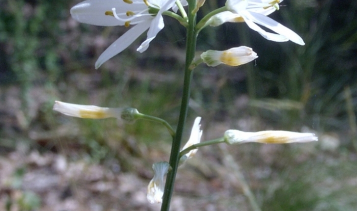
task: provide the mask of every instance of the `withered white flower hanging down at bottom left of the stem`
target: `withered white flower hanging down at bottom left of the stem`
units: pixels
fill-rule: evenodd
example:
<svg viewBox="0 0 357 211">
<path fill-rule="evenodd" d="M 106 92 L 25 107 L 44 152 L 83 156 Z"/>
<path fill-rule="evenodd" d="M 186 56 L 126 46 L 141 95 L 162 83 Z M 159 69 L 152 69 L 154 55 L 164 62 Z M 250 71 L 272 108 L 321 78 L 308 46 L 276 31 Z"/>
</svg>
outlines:
<svg viewBox="0 0 357 211">
<path fill-rule="evenodd" d="M 153 164 L 154 175 L 148 185 L 148 193 L 146 195 L 151 204 L 162 203 L 165 188 L 164 177 L 170 168 L 171 166 L 168 162 L 157 162 Z"/>
</svg>

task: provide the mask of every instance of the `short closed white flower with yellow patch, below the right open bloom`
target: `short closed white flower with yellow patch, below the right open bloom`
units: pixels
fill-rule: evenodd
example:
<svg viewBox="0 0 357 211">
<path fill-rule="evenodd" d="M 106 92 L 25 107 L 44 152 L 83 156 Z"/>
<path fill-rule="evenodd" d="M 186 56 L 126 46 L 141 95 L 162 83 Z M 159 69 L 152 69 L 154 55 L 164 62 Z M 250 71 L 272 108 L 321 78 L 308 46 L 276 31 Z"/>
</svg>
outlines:
<svg viewBox="0 0 357 211">
<path fill-rule="evenodd" d="M 257 57 L 253 49 L 246 46 L 231 48 L 226 51 L 208 50 L 201 54 L 204 63 L 211 67 L 215 67 L 219 64 L 239 66 L 253 61 Z"/>
</svg>

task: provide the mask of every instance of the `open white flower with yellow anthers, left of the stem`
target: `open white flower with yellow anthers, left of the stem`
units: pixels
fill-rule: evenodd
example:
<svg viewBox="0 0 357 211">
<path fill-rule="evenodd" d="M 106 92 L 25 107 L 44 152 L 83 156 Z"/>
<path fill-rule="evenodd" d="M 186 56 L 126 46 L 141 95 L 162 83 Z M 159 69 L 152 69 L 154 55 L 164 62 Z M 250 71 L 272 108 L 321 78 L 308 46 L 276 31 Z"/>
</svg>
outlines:
<svg viewBox="0 0 357 211">
<path fill-rule="evenodd" d="M 146 51 L 150 42 L 164 27 L 162 13 L 176 0 L 85 0 L 71 8 L 71 15 L 81 23 L 96 26 L 130 26 L 96 61 L 99 68 L 105 61 L 128 48 L 147 29 L 148 37 L 137 51 Z M 152 13 L 151 13 L 152 12 Z"/>
</svg>

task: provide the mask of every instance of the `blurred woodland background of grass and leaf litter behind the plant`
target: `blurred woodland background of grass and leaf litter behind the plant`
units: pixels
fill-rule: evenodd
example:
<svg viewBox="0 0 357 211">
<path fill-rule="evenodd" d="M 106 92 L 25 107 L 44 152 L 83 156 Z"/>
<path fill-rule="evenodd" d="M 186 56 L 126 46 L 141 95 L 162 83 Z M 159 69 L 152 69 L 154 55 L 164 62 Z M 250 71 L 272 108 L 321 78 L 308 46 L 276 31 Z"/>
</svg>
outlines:
<svg viewBox="0 0 357 211">
<path fill-rule="evenodd" d="M 152 163 L 169 158 L 164 128 L 52 106 L 136 107 L 175 127 L 185 30 L 165 17 L 146 52 L 135 51 L 144 34 L 95 70 L 127 28 L 77 23 L 69 10 L 78 2 L 0 0 L 0 210 L 158 210 L 146 185 Z M 198 17 L 224 3 L 207 0 Z M 237 175 L 262 211 L 356 209 L 357 1 L 284 0 L 270 17 L 306 45 L 265 40 L 244 23 L 201 32 L 197 56 L 245 45 L 259 57 L 195 69 L 184 141 L 202 116 L 203 140 L 238 129 L 315 132 L 319 142 L 204 147 L 179 169 L 173 211 L 253 210 Z"/>
</svg>

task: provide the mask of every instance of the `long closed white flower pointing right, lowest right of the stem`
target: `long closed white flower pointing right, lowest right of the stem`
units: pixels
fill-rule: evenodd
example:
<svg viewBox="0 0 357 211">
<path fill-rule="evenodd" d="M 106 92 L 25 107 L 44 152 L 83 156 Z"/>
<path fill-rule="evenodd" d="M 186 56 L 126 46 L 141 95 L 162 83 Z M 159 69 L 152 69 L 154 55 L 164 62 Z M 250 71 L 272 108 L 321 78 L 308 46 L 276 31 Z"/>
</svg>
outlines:
<svg viewBox="0 0 357 211">
<path fill-rule="evenodd" d="M 286 144 L 318 140 L 314 133 L 290 131 L 243 132 L 238 130 L 228 130 L 225 132 L 224 138 L 228 144 L 242 144 L 248 142 Z"/>
</svg>

